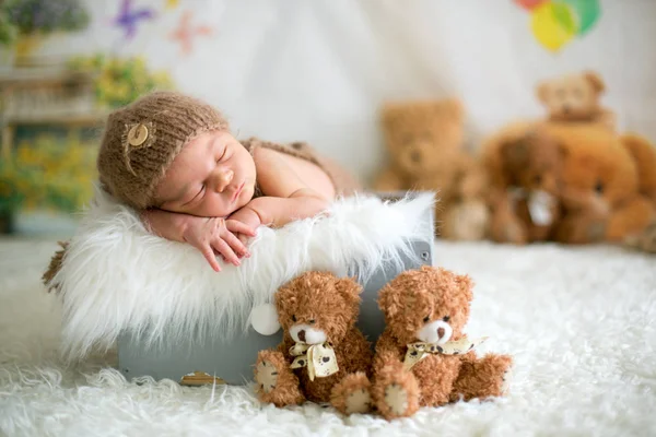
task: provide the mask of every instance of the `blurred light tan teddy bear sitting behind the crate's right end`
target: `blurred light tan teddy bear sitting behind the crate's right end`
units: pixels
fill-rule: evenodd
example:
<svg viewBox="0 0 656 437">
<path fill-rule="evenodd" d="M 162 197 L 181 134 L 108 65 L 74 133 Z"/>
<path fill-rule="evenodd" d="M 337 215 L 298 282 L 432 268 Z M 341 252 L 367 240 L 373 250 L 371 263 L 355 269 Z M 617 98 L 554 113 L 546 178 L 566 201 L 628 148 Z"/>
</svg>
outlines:
<svg viewBox="0 0 656 437">
<path fill-rule="evenodd" d="M 390 164 L 377 191 L 437 192 L 436 231 L 448 239 L 484 237 L 488 209 L 482 166 L 462 147 L 464 109 L 458 99 L 388 103 L 382 110 Z"/>
</svg>

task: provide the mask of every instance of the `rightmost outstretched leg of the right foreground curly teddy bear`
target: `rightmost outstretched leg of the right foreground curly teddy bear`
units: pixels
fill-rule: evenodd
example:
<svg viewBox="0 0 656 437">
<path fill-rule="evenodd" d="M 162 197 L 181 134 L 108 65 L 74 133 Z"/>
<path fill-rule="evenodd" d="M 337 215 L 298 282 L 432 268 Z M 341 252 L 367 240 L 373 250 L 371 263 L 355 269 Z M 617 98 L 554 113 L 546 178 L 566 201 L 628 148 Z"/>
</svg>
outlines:
<svg viewBox="0 0 656 437">
<path fill-rule="evenodd" d="M 507 390 L 507 374 L 513 358 L 508 355 L 488 354 L 482 358 L 476 356 L 462 359 L 458 378 L 454 383 L 450 401 L 469 401 L 500 397 Z"/>
</svg>

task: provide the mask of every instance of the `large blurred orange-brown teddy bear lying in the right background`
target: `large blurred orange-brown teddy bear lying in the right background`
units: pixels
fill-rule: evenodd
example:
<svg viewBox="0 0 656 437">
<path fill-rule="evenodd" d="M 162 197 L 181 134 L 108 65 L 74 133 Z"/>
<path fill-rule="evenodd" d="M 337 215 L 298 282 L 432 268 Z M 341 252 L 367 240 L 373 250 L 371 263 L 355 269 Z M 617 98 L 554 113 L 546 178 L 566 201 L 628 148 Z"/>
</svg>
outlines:
<svg viewBox="0 0 656 437">
<path fill-rule="evenodd" d="M 507 179 L 501 164 L 504 144 L 537 128 L 551 135 L 562 153 L 559 201 L 563 216 L 553 239 L 621 244 L 656 220 L 654 201 L 647 197 L 656 184 L 643 176 L 652 175 L 654 164 L 644 163 L 656 161 L 656 150 L 644 139 L 619 137 L 589 122 L 518 121 L 491 135 L 481 153 L 492 192 L 503 190 Z"/>
</svg>

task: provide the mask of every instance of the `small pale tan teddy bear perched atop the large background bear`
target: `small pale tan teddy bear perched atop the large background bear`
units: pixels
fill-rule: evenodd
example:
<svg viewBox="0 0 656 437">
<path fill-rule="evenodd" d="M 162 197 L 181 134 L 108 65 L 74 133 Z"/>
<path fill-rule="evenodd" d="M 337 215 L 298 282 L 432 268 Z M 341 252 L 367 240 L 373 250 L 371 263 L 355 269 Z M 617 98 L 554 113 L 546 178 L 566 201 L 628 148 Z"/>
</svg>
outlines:
<svg viewBox="0 0 656 437">
<path fill-rule="evenodd" d="M 547 106 L 549 120 L 596 122 L 614 132 L 614 114 L 599 103 L 605 91 L 604 80 L 594 71 L 565 74 L 537 86 L 538 98 Z"/>
</svg>

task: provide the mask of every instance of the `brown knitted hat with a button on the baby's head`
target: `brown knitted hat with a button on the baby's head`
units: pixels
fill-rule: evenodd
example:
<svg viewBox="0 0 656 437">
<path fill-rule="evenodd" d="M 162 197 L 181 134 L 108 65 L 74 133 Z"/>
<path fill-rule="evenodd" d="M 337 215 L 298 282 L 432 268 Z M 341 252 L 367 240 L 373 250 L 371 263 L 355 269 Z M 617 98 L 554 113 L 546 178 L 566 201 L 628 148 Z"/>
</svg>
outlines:
<svg viewBox="0 0 656 437">
<path fill-rule="evenodd" d="M 98 153 L 101 184 L 137 209 L 155 204 L 154 191 L 173 160 L 194 137 L 226 130 L 221 113 L 175 92 L 153 92 L 112 113 Z"/>
</svg>

